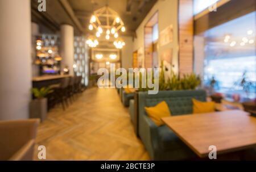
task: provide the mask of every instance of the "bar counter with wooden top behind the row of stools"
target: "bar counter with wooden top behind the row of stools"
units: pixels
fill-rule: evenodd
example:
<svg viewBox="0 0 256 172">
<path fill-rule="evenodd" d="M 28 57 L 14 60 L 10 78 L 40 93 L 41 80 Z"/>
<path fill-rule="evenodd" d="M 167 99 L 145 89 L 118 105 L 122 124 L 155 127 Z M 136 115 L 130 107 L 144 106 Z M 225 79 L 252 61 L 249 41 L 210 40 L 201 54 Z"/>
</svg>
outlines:
<svg viewBox="0 0 256 172">
<path fill-rule="evenodd" d="M 42 75 L 32 78 L 33 87 L 47 87 L 60 83 L 62 78 L 71 77 L 71 75 Z"/>
</svg>

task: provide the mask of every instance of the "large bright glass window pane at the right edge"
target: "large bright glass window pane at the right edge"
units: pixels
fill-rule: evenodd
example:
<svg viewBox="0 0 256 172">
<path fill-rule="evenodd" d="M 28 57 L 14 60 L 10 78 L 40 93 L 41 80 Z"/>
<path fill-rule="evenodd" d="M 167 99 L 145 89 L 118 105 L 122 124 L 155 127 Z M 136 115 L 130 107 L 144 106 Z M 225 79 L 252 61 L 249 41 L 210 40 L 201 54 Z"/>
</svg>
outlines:
<svg viewBox="0 0 256 172">
<path fill-rule="evenodd" d="M 255 18 L 252 12 L 206 31 L 204 84 L 226 95 L 255 98 Z"/>
</svg>

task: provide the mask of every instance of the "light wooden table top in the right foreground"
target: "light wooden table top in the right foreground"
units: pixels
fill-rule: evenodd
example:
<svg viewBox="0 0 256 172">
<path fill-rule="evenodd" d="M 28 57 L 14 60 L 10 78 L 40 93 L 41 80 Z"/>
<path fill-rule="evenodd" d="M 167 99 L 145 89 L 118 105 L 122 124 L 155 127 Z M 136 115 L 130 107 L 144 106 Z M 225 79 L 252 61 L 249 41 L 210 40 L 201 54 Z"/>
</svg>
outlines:
<svg viewBox="0 0 256 172">
<path fill-rule="evenodd" d="M 256 118 L 240 110 L 190 114 L 162 118 L 164 123 L 199 157 L 207 157 L 209 146 L 217 155 L 256 145 Z"/>
</svg>

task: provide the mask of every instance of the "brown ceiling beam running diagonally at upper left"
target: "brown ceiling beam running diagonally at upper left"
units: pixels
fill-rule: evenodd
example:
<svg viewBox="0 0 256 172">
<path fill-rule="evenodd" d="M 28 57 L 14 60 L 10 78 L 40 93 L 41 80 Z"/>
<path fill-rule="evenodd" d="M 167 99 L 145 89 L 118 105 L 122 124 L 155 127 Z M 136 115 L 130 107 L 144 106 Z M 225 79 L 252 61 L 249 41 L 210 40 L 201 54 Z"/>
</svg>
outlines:
<svg viewBox="0 0 256 172">
<path fill-rule="evenodd" d="M 60 4 L 63 6 L 63 9 L 67 12 L 73 23 L 75 23 L 76 27 L 81 33 L 84 33 L 84 28 L 82 27 L 79 19 L 77 19 L 75 12 L 73 11 L 71 5 L 68 0 L 59 0 Z"/>
</svg>

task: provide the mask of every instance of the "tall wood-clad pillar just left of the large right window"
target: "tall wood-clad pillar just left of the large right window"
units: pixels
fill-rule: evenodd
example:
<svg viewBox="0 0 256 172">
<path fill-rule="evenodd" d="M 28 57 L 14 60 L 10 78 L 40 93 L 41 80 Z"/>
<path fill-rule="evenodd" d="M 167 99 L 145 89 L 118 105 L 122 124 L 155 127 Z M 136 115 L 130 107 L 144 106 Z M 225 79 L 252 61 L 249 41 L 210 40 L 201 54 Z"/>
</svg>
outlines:
<svg viewBox="0 0 256 172">
<path fill-rule="evenodd" d="M 179 74 L 193 72 L 193 1 L 179 0 Z"/>
</svg>

